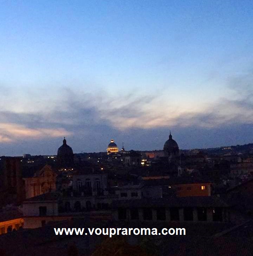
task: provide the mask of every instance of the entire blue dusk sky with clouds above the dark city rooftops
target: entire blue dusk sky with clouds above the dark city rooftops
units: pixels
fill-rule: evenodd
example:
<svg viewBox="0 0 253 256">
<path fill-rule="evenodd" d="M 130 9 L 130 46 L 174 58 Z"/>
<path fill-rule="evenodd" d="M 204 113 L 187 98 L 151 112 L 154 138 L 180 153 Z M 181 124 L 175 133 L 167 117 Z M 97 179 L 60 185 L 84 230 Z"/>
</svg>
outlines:
<svg viewBox="0 0 253 256">
<path fill-rule="evenodd" d="M 253 142 L 252 1 L 0 0 L 0 155 Z"/>
</svg>

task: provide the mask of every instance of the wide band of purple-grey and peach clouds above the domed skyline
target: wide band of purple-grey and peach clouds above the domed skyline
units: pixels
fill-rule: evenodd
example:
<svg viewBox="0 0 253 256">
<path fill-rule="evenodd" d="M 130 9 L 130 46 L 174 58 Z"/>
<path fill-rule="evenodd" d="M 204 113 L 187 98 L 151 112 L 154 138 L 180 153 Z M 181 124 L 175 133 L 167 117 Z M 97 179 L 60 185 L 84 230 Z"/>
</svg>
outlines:
<svg viewBox="0 0 253 256">
<path fill-rule="evenodd" d="M 201 142 L 208 141 L 206 136 L 210 131 L 216 130 L 222 134 L 222 129 L 234 127 L 233 131 L 238 132 L 238 127 L 252 125 L 252 81 L 251 73 L 229 78 L 228 87 L 234 92 L 232 98 L 219 98 L 215 102 L 199 105 L 199 109 L 189 105 L 186 110 L 169 100 L 164 101 L 166 92 L 148 95 L 148 92 L 140 93 L 136 90 L 136 93 L 113 97 L 104 91 L 92 94 L 64 87 L 58 93 L 54 91 L 50 100 L 47 100 L 48 94 L 41 94 L 38 98 L 35 97 L 38 96 L 35 91 L 31 92 L 34 97 L 22 99 L 27 100 L 24 104 L 29 108 L 18 108 L 18 102 L 15 109 L 19 111 L 7 111 L 5 100 L 6 105 L 0 111 L 0 142 L 9 145 L 8 152 L 12 152 L 11 145 L 14 143 L 29 141 L 31 153 L 36 150 L 45 153 L 49 141 L 53 144 L 52 148 L 57 148 L 59 137 L 69 136 L 77 150 L 100 151 L 114 137 L 124 141 L 126 146 L 129 142 L 129 147 L 132 145 L 136 149 L 147 149 L 153 145 L 155 149 L 163 146 L 168 129 L 172 129 L 176 133 L 180 131 L 185 134 L 182 137 L 177 134 L 178 138 L 183 138 L 181 145 L 184 148 L 197 146 L 193 142 L 194 138 L 189 140 L 187 131 L 202 133 L 202 138 L 197 140 L 199 145 L 210 146 L 209 142 Z M 245 129 L 249 130 L 248 127 Z M 250 138 L 248 133 L 247 136 Z M 25 151 L 24 145 L 19 144 L 20 151 Z M 36 145 L 41 145 L 41 148 L 37 149 Z"/>
</svg>

